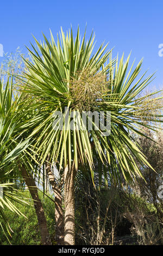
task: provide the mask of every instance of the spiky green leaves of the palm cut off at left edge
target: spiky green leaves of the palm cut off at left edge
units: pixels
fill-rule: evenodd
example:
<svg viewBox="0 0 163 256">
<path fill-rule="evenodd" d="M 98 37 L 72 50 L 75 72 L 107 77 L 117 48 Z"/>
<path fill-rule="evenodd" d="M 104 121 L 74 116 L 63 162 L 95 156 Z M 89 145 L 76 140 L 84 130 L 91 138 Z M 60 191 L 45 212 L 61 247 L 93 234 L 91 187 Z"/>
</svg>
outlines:
<svg viewBox="0 0 163 256">
<path fill-rule="evenodd" d="M 22 213 L 13 204 L 14 200 L 27 203 L 18 193 L 15 187 L 16 175 L 13 175 L 17 157 L 29 146 L 29 139 L 19 143 L 14 140 L 16 119 L 13 117 L 15 110 L 16 105 L 12 104 L 12 80 L 9 81 L 8 78 L 5 89 L 3 89 L 3 83 L 0 80 L 0 226 L 6 236 L 5 230 L 8 231 L 9 235 L 11 235 L 12 230 L 7 216 L 4 215 L 4 206 L 20 215 Z"/>
</svg>

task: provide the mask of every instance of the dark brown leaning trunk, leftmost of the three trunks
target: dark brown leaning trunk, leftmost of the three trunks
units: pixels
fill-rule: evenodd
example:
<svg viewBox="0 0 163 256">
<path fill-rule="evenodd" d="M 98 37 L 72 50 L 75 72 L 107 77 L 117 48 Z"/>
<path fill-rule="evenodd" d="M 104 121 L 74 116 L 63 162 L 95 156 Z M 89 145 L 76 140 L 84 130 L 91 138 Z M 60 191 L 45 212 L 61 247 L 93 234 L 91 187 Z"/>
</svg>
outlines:
<svg viewBox="0 0 163 256">
<path fill-rule="evenodd" d="M 49 233 L 47 229 L 47 221 L 45 218 L 41 200 L 39 198 L 35 180 L 33 179 L 32 175 L 30 175 L 27 172 L 24 166 L 21 167 L 21 173 L 22 173 L 23 179 L 26 182 L 26 185 L 28 186 L 29 192 L 34 200 L 34 208 L 36 211 L 37 220 L 39 224 L 42 245 L 51 245 L 52 243 L 51 243 L 51 239 L 49 237 Z"/>
</svg>

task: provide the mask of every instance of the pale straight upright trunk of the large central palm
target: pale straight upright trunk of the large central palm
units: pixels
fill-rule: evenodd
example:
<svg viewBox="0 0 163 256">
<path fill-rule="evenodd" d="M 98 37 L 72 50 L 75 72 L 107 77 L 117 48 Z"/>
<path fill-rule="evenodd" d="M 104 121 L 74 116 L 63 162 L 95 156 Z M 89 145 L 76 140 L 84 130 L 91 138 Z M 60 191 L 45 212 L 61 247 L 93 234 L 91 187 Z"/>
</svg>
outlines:
<svg viewBox="0 0 163 256">
<path fill-rule="evenodd" d="M 76 170 L 66 166 L 65 178 L 65 245 L 75 245 L 74 178 Z"/>
</svg>

